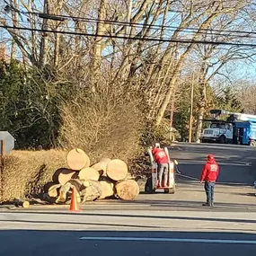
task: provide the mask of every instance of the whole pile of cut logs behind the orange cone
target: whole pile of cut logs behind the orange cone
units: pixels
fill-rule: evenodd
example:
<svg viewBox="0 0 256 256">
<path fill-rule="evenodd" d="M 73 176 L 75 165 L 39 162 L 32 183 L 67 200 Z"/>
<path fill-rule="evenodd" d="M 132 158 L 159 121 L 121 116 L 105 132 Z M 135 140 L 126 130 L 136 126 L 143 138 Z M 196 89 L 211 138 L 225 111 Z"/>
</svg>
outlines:
<svg viewBox="0 0 256 256">
<path fill-rule="evenodd" d="M 113 198 L 132 200 L 139 194 L 137 181 L 127 179 L 128 166 L 119 159 L 102 158 L 91 165 L 88 155 L 75 148 L 68 152 L 66 163 L 69 169 L 58 169 L 44 186 L 44 199 L 51 203 L 69 203 L 73 188 L 79 203 Z"/>
</svg>

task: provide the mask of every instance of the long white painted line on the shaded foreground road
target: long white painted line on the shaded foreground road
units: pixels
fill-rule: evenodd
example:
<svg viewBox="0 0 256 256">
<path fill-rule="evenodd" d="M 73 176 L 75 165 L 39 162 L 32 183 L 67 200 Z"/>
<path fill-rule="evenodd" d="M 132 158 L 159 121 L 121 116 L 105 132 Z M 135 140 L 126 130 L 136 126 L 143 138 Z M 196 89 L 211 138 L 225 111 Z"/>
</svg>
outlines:
<svg viewBox="0 0 256 256">
<path fill-rule="evenodd" d="M 138 241 L 138 242 L 181 242 L 181 243 L 243 243 L 256 244 L 255 240 L 236 239 L 191 239 L 168 237 L 115 237 L 115 236 L 83 236 L 80 240 L 87 241 Z"/>
</svg>

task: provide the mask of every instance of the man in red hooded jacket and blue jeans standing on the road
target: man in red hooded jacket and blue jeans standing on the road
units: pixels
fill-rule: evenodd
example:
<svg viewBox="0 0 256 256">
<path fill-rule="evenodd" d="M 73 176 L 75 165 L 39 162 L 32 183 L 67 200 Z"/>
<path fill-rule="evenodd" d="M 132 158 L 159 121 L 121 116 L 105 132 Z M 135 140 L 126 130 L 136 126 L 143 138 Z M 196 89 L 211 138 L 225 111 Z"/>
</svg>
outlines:
<svg viewBox="0 0 256 256">
<path fill-rule="evenodd" d="M 207 203 L 203 204 L 206 207 L 214 206 L 214 188 L 216 184 L 216 179 L 219 173 L 219 166 L 213 154 L 207 156 L 207 163 L 204 165 L 200 183 L 205 181 L 205 190 L 207 194 Z"/>
</svg>

